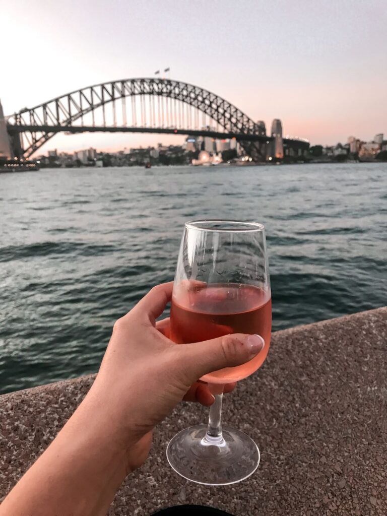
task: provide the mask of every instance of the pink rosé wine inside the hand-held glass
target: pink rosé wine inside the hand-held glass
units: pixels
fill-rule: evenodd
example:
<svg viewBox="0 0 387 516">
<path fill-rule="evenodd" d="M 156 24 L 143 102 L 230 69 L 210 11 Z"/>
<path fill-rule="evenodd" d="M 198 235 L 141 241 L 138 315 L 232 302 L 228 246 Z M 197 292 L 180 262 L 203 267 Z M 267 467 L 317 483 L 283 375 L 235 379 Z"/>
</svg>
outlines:
<svg viewBox="0 0 387 516">
<path fill-rule="evenodd" d="M 187 282 L 188 283 L 188 282 Z M 178 344 L 206 341 L 228 333 L 256 333 L 264 349 L 246 364 L 205 375 L 209 383 L 229 383 L 246 378 L 261 367 L 269 350 L 271 296 L 254 285 L 186 282 L 175 286 L 171 306 L 171 339 Z"/>
</svg>

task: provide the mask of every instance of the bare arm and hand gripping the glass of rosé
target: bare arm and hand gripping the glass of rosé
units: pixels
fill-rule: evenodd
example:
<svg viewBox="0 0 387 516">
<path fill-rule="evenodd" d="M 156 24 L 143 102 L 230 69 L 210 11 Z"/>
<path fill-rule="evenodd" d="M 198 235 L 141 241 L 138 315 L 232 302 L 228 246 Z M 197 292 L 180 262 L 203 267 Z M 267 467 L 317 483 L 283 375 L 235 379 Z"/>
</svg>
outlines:
<svg viewBox="0 0 387 516">
<path fill-rule="evenodd" d="M 196 379 L 260 351 L 260 339 L 241 334 L 176 346 L 166 324 L 158 331 L 155 323 L 171 293 L 171 283 L 158 285 L 117 321 L 92 388 L 0 516 L 106 514 L 125 476 L 147 458 L 154 426 L 182 399 L 212 404 Z"/>
</svg>

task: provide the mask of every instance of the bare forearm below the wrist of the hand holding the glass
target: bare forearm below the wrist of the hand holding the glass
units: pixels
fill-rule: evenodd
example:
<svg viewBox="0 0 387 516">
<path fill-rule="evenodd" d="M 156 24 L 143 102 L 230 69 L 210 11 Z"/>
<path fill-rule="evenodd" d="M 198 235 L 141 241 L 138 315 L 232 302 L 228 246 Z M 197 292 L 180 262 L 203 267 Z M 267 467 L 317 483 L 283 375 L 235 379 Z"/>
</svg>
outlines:
<svg viewBox="0 0 387 516">
<path fill-rule="evenodd" d="M 106 514 L 128 472 L 130 443 L 100 403 L 89 393 L 6 497 L 0 516 Z"/>
</svg>

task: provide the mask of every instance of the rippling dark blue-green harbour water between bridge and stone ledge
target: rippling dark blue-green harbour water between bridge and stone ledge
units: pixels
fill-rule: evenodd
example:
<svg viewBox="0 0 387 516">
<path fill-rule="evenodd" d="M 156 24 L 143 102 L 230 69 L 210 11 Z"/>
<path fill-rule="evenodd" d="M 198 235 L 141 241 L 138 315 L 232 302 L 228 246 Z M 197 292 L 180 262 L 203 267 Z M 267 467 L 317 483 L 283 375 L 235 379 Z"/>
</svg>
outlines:
<svg viewBox="0 0 387 516">
<path fill-rule="evenodd" d="M 183 223 L 266 225 L 274 329 L 386 304 L 385 164 L 0 175 L 0 392 L 94 372 Z"/>
</svg>

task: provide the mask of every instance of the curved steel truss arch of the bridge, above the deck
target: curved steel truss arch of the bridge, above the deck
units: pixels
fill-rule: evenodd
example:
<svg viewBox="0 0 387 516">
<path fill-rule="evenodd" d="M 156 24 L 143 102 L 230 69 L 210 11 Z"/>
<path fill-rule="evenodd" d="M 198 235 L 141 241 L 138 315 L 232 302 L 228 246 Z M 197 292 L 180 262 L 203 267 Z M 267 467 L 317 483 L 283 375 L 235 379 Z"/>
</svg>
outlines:
<svg viewBox="0 0 387 516">
<path fill-rule="evenodd" d="M 93 130 L 97 131 L 98 128 L 101 128 L 101 130 L 104 128 L 104 130 L 109 131 L 105 124 L 105 106 L 108 104 L 112 105 L 114 112 L 114 125 L 111 131 L 125 131 L 125 127 L 127 127 L 126 117 L 124 117 L 122 126 L 116 124 L 116 104 L 121 102 L 123 112 L 124 108 L 126 110 L 126 99 L 134 99 L 137 96 L 141 98 L 149 96 L 153 99 L 157 97 L 159 99 L 171 99 L 196 108 L 216 122 L 225 134 L 238 135 L 241 140 L 243 140 L 241 138 L 243 135 L 255 135 L 254 143 L 247 141 L 248 138 L 246 138 L 246 140 L 241 141 L 241 144 L 249 149 L 253 146 L 255 153 L 261 153 L 259 140 L 264 143 L 266 136 L 262 134 L 262 127 L 243 111 L 204 88 L 162 78 L 120 79 L 66 93 L 33 108 L 24 108 L 8 117 L 8 132 L 11 135 L 15 132 L 29 133 L 28 146 L 22 149 L 22 152 L 25 157 L 30 157 L 57 132 L 66 131 L 66 127 L 73 126 L 74 122 L 77 121 L 82 122 L 83 118 L 89 114 L 92 115 Z M 152 102 L 150 102 L 150 106 L 150 111 L 152 111 Z M 99 108 L 103 110 L 103 125 L 95 125 L 94 123 L 94 112 Z M 147 109 L 145 102 L 144 109 Z M 155 106 L 153 103 L 153 126 L 150 126 L 148 132 L 152 132 L 152 127 L 156 127 L 154 113 Z"/>
</svg>

